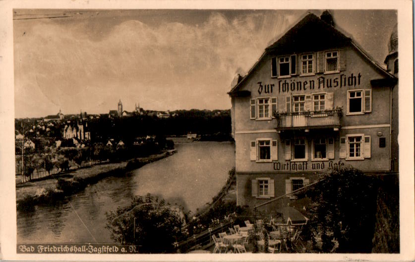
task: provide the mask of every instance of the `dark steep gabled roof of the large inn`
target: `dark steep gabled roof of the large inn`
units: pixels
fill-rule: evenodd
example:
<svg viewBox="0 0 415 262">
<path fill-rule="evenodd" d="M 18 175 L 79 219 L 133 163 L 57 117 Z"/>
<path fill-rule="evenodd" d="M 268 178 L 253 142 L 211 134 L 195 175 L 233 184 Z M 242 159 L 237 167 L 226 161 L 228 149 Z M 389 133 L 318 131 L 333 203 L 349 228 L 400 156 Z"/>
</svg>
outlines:
<svg viewBox="0 0 415 262">
<path fill-rule="evenodd" d="M 312 41 L 310 41 L 310 39 L 312 39 Z M 252 68 L 249 69 L 248 73 L 242 79 L 237 79 L 237 84 L 232 86 L 231 91 L 228 94 L 237 96 L 237 91 L 241 84 L 267 54 L 283 55 L 300 52 L 318 52 L 346 46 L 351 46 L 357 52 L 362 54 L 372 66 L 386 77 L 395 78 L 394 75 L 387 72 L 375 59 L 365 52 L 357 42 L 353 40 L 352 36 L 348 36 L 347 33 L 344 33 L 343 29 L 338 26 L 330 25 L 313 13 L 308 13 L 293 27 L 290 27 L 281 38 L 265 49 L 261 57 L 255 62 Z"/>
</svg>

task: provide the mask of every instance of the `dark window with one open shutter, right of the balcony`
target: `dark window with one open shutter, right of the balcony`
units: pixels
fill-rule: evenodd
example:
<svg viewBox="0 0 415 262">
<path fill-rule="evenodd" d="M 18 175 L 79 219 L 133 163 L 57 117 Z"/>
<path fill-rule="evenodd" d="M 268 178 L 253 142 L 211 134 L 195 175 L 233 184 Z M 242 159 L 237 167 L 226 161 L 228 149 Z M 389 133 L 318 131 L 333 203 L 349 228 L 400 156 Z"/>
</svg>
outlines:
<svg viewBox="0 0 415 262">
<path fill-rule="evenodd" d="M 349 90 L 347 94 L 347 114 L 363 114 L 372 111 L 372 90 Z"/>
</svg>

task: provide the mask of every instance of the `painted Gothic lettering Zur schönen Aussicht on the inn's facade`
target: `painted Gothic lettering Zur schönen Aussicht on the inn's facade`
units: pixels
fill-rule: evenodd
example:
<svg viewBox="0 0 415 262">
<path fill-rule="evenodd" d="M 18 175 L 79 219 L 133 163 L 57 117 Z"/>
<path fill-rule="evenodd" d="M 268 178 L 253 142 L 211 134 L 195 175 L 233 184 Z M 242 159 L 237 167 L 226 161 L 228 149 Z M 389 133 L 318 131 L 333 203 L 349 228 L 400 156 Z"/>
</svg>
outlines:
<svg viewBox="0 0 415 262">
<path fill-rule="evenodd" d="M 315 80 L 308 81 L 297 81 L 296 79 L 278 80 L 277 86 L 275 86 L 275 84 L 263 84 L 263 82 L 258 82 L 258 94 L 261 95 L 262 92 L 265 94 L 270 94 L 276 91 L 276 88 L 278 88 L 278 93 L 281 94 L 290 91 L 306 91 L 333 87 L 356 87 L 360 86 L 360 78 L 360 73 L 357 75 L 351 73 L 349 76 L 340 74 L 339 77 L 320 76 Z"/>
</svg>

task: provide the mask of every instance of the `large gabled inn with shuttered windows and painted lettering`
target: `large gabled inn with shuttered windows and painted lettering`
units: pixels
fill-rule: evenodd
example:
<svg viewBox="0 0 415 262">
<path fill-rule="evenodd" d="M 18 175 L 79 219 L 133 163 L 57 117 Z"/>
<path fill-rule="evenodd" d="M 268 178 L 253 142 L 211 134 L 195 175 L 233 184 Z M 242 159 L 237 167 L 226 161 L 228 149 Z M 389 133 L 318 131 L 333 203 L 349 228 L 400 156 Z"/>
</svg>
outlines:
<svg viewBox="0 0 415 262">
<path fill-rule="evenodd" d="M 397 75 L 336 28 L 328 11 L 306 14 L 232 83 L 237 205 L 286 195 L 266 209 L 301 206 L 290 193 L 336 165 L 397 170 L 397 94 Z"/>
</svg>

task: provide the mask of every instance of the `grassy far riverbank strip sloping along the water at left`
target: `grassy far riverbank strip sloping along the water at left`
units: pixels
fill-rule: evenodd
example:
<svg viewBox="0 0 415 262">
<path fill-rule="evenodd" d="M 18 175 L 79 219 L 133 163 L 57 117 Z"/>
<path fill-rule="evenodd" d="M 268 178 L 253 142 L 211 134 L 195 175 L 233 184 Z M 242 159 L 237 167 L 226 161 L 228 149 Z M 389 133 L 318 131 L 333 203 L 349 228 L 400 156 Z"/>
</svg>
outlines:
<svg viewBox="0 0 415 262">
<path fill-rule="evenodd" d="M 70 172 L 61 172 L 42 180 L 16 184 L 17 209 L 31 210 L 34 205 L 54 203 L 105 177 L 123 176 L 128 170 L 140 168 L 147 163 L 171 156 L 175 152 L 176 150 L 169 150 L 149 157 L 88 166 Z"/>
</svg>

